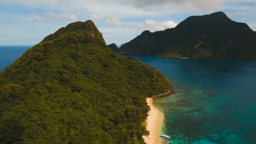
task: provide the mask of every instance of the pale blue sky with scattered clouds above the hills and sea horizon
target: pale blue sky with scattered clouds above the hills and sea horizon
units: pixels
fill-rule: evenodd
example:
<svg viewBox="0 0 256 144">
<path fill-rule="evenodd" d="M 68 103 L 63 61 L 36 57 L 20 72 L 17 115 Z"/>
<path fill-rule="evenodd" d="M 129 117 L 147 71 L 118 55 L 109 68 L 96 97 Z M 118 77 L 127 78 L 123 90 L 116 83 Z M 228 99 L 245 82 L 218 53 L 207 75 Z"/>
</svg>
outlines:
<svg viewBox="0 0 256 144">
<path fill-rule="evenodd" d="M 107 44 L 121 45 L 144 30 L 217 11 L 256 31 L 256 0 L 0 0 L 0 45 L 35 45 L 60 27 L 89 19 Z"/>
</svg>

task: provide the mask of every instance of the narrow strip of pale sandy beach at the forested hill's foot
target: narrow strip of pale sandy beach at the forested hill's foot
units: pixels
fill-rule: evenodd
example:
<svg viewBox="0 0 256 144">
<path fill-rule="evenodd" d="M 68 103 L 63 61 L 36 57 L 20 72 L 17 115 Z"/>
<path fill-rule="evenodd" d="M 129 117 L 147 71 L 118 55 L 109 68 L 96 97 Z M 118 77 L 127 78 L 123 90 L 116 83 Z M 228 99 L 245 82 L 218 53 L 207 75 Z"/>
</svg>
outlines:
<svg viewBox="0 0 256 144">
<path fill-rule="evenodd" d="M 146 144 L 160 144 L 163 125 L 163 113 L 157 109 L 153 104 L 152 98 L 147 98 L 147 103 L 150 107 L 150 111 L 148 112 L 149 116 L 147 117 L 147 131 L 149 131 L 149 136 L 142 136 L 146 142 Z"/>
</svg>

